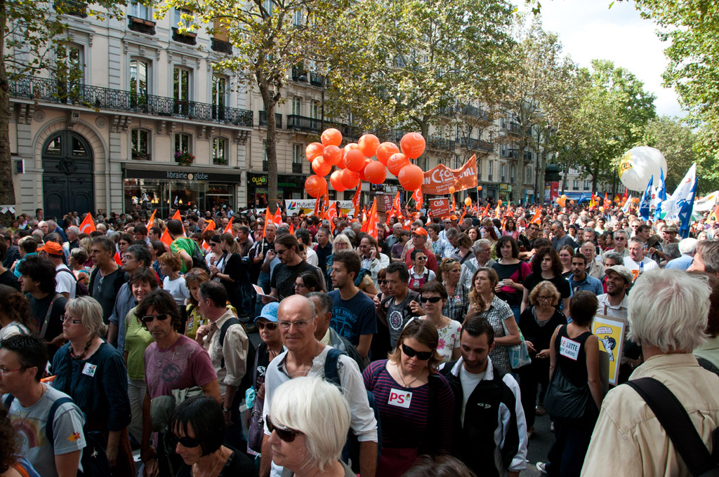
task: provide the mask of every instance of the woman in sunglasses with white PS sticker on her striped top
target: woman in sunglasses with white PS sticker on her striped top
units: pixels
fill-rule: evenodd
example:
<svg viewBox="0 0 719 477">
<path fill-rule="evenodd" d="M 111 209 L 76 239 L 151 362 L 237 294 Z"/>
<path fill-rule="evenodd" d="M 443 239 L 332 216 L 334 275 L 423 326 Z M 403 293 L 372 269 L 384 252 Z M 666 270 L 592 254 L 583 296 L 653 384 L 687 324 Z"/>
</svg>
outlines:
<svg viewBox="0 0 719 477">
<path fill-rule="evenodd" d="M 398 477 L 418 455 L 452 450 L 454 394 L 437 374 L 438 344 L 431 321 L 411 320 L 389 359 L 374 361 L 362 371 L 382 422 L 377 477 Z"/>
</svg>

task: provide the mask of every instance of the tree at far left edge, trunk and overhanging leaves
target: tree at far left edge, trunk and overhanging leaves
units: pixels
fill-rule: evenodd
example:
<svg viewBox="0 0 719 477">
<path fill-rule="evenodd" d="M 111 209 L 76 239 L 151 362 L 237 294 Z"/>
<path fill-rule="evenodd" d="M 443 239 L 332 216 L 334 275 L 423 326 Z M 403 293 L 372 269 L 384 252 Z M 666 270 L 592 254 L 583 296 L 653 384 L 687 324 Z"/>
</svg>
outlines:
<svg viewBox="0 0 719 477">
<path fill-rule="evenodd" d="M 117 17 L 122 15 L 125 0 L 96 0 L 100 10 L 90 9 L 93 17 Z M 55 11 L 52 11 L 54 5 Z M 0 205 L 15 204 L 15 188 L 12 181 L 10 157 L 10 82 L 21 75 L 36 74 L 42 70 L 60 73 L 65 81 L 72 80 L 77 71 L 69 68 L 55 52 L 67 30 L 65 14 L 76 13 L 76 1 L 0 0 Z M 58 69 L 62 65 L 63 68 Z M 70 65 L 71 66 L 71 65 Z M 58 97 L 66 96 L 58 83 Z M 12 212 L 2 214 L 3 223 L 9 224 Z"/>
</svg>

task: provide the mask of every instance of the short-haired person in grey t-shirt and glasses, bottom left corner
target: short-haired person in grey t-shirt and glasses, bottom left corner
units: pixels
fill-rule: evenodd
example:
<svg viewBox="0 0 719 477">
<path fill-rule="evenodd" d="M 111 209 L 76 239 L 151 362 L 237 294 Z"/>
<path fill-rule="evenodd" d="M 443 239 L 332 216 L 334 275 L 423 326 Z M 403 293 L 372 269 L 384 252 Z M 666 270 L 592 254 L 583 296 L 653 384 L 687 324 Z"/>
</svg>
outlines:
<svg viewBox="0 0 719 477">
<path fill-rule="evenodd" d="M 0 343 L 0 394 L 8 417 L 22 435 L 20 455 L 42 477 L 74 477 L 86 446 L 85 419 L 70 397 L 42 384 L 47 349 L 34 335 L 14 335 Z M 62 399 L 62 401 L 60 401 Z M 47 422 L 55 407 L 52 443 Z M 6 449 L 0 450 L 6 452 Z"/>
</svg>

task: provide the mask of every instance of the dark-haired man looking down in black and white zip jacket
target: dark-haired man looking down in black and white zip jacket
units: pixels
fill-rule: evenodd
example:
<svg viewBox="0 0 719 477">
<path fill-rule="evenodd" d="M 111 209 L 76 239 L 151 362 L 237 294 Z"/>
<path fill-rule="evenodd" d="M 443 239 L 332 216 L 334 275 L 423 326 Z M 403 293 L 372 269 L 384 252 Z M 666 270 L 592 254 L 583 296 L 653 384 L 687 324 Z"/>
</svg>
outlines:
<svg viewBox="0 0 719 477">
<path fill-rule="evenodd" d="M 492 366 L 492 325 L 479 316 L 462 325 L 462 357 L 441 374 L 457 400 L 454 455 L 478 476 L 516 477 L 526 468 L 527 426 L 519 385 Z"/>
</svg>

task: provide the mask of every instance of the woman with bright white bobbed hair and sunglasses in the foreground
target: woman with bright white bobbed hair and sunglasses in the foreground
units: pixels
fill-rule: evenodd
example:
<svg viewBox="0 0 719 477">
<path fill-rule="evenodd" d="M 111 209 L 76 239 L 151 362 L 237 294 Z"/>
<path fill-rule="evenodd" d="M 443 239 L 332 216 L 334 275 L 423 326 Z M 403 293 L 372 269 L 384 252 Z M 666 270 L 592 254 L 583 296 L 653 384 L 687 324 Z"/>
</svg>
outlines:
<svg viewBox="0 0 719 477">
<path fill-rule="evenodd" d="M 278 386 L 265 424 L 282 477 L 354 477 L 341 460 L 349 404 L 337 386 L 316 376 Z"/>
</svg>

